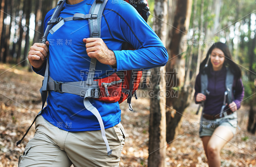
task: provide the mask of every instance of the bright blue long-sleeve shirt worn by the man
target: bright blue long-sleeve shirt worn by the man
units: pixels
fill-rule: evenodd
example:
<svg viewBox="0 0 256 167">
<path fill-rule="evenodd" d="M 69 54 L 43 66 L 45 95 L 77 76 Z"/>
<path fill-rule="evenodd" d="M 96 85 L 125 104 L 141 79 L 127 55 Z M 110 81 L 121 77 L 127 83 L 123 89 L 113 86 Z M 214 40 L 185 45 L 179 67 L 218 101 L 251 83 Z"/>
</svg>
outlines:
<svg viewBox="0 0 256 167">
<path fill-rule="evenodd" d="M 75 13 L 88 14 L 94 0 L 84 0 L 75 5 L 64 4 L 60 17 Z M 44 20 L 44 28 L 53 10 Z M 89 38 L 88 20 L 65 22 L 55 33 L 48 35 L 49 75 L 56 81 L 85 81 L 91 58 L 86 53 L 83 38 Z M 101 19 L 101 38 L 116 56 L 116 70 L 149 69 L 163 66 L 168 54 L 156 33 L 141 18 L 138 12 L 123 0 L 108 1 Z M 129 42 L 136 50 L 121 50 Z M 44 75 L 45 66 L 37 73 Z M 95 79 L 107 76 L 115 70 L 109 65 L 96 63 Z M 98 109 L 105 128 L 113 127 L 121 120 L 118 102 L 107 103 L 89 98 Z M 96 117 L 83 105 L 83 97 L 69 93 L 49 91 L 43 117 L 53 125 L 67 131 L 100 130 Z"/>
</svg>

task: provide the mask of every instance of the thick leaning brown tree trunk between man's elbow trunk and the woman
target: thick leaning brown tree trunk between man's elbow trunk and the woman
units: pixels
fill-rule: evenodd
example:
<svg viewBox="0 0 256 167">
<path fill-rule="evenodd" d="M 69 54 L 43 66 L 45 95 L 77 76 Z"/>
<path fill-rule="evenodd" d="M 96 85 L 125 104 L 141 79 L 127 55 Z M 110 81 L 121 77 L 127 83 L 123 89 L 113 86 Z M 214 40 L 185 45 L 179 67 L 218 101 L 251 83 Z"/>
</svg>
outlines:
<svg viewBox="0 0 256 167">
<path fill-rule="evenodd" d="M 190 102 L 193 87 L 184 86 L 185 80 L 185 58 L 181 54 L 186 48 L 182 46 L 182 39 L 186 39 L 186 33 L 191 16 L 192 0 L 177 0 L 173 27 L 169 32 L 172 37 L 167 47 L 169 58 L 171 61 L 166 64 L 166 74 L 168 75 L 166 92 L 170 92 L 171 96 L 166 98 L 166 141 L 171 142 L 175 136 L 175 129 L 180 122 L 184 109 Z M 178 75 L 179 74 L 179 75 Z M 180 87 L 174 91 L 173 87 Z M 178 96 L 177 96 L 178 95 Z M 178 98 L 179 97 L 179 98 Z M 189 99 L 189 100 L 188 100 Z M 176 112 L 179 112 L 176 113 Z M 175 114 L 176 113 L 176 114 Z"/>
</svg>

